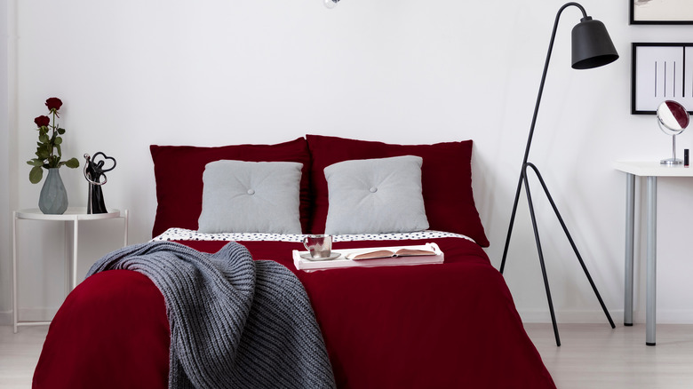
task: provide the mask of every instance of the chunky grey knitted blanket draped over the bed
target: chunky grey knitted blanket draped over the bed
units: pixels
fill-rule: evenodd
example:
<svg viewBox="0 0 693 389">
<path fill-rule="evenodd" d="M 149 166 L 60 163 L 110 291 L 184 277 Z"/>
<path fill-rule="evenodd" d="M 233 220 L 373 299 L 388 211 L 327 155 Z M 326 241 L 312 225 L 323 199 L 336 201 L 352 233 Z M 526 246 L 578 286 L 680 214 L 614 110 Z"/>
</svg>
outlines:
<svg viewBox="0 0 693 389">
<path fill-rule="evenodd" d="M 87 276 L 147 275 L 171 326 L 171 388 L 333 388 L 323 336 L 306 290 L 274 261 L 230 242 L 206 254 L 175 242 L 116 250 Z"/>
</svg>

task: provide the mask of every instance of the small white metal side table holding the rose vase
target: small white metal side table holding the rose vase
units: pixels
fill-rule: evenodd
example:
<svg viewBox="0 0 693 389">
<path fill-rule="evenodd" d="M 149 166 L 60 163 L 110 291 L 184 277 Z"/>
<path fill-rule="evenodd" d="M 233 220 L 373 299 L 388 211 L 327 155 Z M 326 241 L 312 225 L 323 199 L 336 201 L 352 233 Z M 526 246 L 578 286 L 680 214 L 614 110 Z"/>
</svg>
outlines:
<svg viewBox="0 0 693 389">
<path fill-rule="evenodd" d="M 14 332 L 17 333 L 17 327 L 21 325 L 45 325 L 50 322 L 20 322 L 18 307 L 17 307 L 17 221 L 20 219 L 28 220 L 53 220 L 62 221 L 65 226 L 68 222 L 72 222 L 72 263 L 71 277 L 69 290 L 75 289 L 77 286 L 77 249 L 79 247 L 79 222 L 86 220 L 103 220 L 107 218 L 123 218 L 123 245 L 128 244 L 128 211 L 127 210 L 111 210 L 108 213 L 86 213 L 86 207 L 70 207 L 62 215 L 45 215 L 41 210 L 34 208 L 29 210 L 15 210 L 12 212 L 12 324 Z"/>
</svg>

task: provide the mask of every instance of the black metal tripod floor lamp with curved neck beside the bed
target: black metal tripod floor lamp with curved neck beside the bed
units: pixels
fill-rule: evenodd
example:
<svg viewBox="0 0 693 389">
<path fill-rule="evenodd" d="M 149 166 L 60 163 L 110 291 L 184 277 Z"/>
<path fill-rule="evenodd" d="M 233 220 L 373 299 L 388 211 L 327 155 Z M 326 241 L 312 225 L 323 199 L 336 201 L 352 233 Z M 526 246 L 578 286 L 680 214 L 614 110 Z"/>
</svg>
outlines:
<svg viewBox="0 0 693 389">
<path fill-rule="evenodd" d="M 578 252 L 578 248 L 575 246 L 575 242 L 573 242 L 573 239 L 570 237 L 570 233 L 568 232 L 568 227 L 565 226 L 565 223 L 563 222 L 563 218 L 561 217 L 561 214 L 558 211 L 558 208 L 556 208 L 556 204 L 554 203 L 554 199 L 551 197 L 551 194 L 549 194 L 548 188 L 546 187 L 546 183 L 544 182 L 544 179 L 542 179 L 541 174 L 539 173 L 539 170 L 537 166 L 534 165 L 534 163 L 530 163 L 527 161 L 528 156 L 530 155 L 530 146 L 532 143 L 532 135 L 534 134 L 534 124 L 537 123 L 537 114 L 539 111 L 539 103 L 541 102 L 541 95 L 542 92 L 544 91 L 544 82 L 546 81 L 546 70 L 548 70 L 548 65 L 549 65 L 549 60 L 551 60 L 551 52 L 554 49 L 554 38 L 556 36 L 556 28 L 558 28 L 558 20 L 561 18 L 561 13 L 563 10 L 568 8 L 570 5 L 575 5 L 582 11 L 583 18 L 580 20 L 578 25 L 576 25 L 573 28 L 572 31 L 572 67 L 575 69 L 589 69 L 593 67 L 601 67 L 602 65 L 609 64 L 615 60 L 618 59 L 618 53 L 616 52 L 616 48 L 614 47 L 614 44 L 611 42 L 611 38 L 609 37 L 609 33 L 607 32 L 606 28 L 604 27 L 604 24 L 601 23 L 599 20 L 593 20 L 592 17 L 587 16 L 587 12 L 585 12 L 585 8 L 583 8 L 582 5 L 578 3 L 568 3 L 564 4 L 560 10 L 558 10 L 558 13 L 556 13 L 556 20 L 554 22 L 554 32 L 551 34 L 551 43 L 549 44 L 548 52 L 546 53 L 546 63 L 544 64 L 544 74 L 541 76 L 541 83 L 539 84 L 539 93 L 537 96 L 537 104 L 534 107 L 534 116 L 532 117 L 532 123 L 530 127 L 530 136 L 527 139 L 527 147 L 524 150 L 524 158 L 522 159 L 522 169 L 520 171 L 520 180 L 517 183 L 517 191 L 515 192 L 515 200 L 513 204 L 513 213 L 510 217 L 510 226 L 508 226 L 508 231 L 507 231 L 507 237 L 506 237 L 506 248 L 503 250 L 503 260 L 500 264 L 500 273 L 503 273 L 503 270 L 506 266 L 506 257 L 507 257 L 507 250 L 508 246 L 510 245 L 510 235 L 513 233 L 513 224 L 514 224 L 514 219 L 515 219 L 515 213 L 517 211 L 517 202 L 520 198 L 520 192 L 522 191 L 522 186 L 524 185 L 525 192 L 527 193 L 527 201 L 529 202 L 530 205 L 530 216 L 532 219 L 532 228 L 534 229 L 534 239 L 537 242 L 537 250 L 539 254 L 539 263 L 541 265 L 541 272 L 542 275 L 544 276 L 544 286 L 546 288 L 546 298 L 548 299 L 548 305 L 549 305 L 549 311 L 551 313 L 551 321 L 554 324 L 554 335 L 556 337 L 556 345 L 561 345 L 561 338 L 558 336 L 558 327 L 556 326 L 556 317 L 554 314 L 554 303 L 551 300 L 551 290 L 549 290 L 549 284 L 548 284 L 548 279 L 546 278 L 546 266 L 544 266 L 544 254 L 542 253 L 541 250 L 541 242 L 539 242 L 539 232 L 537 228 L 537 219 L 535 218 L 534 215 L 534 207 L 532 205 L 532 198 L 530 194 L 530 184 L 529 181 L 527 180 L 527 171 L 528 168 L 530 168 L 532 171 L 535 172 L 537 175 L 537 178 L 539 179 L 539 183 L 541 184 L 541 187 L 544 188 L 544 193 L 546 194 L 546 197 L 548 198 L 548 201 L 551 203 L 551 206 L 554 208 L 554 212 L 556 213 L 556 217 L 558 218 L 559 222 L 561 223 L 561 226 L 563 227 L 563 232 L 566 234 L 568 237 L 568 240 L 570 242 L 570 245 L 573 248 L 573 251 L 575 251 L 575 255 L 578 257 L 578 261 L 580 262 L 580 266 L 582 266 L 582 269 L 585 271 L 585 275 L 587 276 L 587 280 L 589 280 L 590 285 L 592 285 L 592 289 L 594 290 L 594 294 L 597 296 L 597 299 L 599 300 L 599 303 L 601 304 L 601 309 L 604 310 L 604 314 L 606 314 L 607 319 L 609 319 L 609 324 L 611 325 L 611 328 L 616 328 L 616 325 L 614 322 L 611 320 L 611 315 L 609 315 L 609 311 L 607 310 L 606 306 L 604 306 L 604 302 L 601 300 L 601 296 L 599 294 L 599 291 L 597 290 L 597 287 L 594 285 L 594 282 L 592 281 L 592 277 L 590 276 L 589 271 L 587 271 L 587 267 L 585 266 L 585 262 L 582 260 L 582 257 L 580 257 L 580 253 Z"/>
</svg>

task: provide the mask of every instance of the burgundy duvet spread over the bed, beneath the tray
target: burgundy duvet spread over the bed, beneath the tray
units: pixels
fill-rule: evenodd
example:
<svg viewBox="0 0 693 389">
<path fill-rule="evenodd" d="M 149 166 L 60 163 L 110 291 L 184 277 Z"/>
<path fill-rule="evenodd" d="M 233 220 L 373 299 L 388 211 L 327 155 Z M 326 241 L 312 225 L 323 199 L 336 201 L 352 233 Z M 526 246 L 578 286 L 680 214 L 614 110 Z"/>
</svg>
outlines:
<svg viewBox="0 0 693 389">
<path fill-rule="evenodd" d="M 339 388 L 554 388 L 501 274 L 482 248 L 439 238 L 442 265 L 297 271 L 296 242 L 241 242 L 299 276 Z M 182 242 L 214 252 L 226 242 Z M 398 241 L 396 245 L 422 244 Z M 333 250 L 391 246 L 335 242 Z M 36 388 L 164 388 L 169 327 L 147 277 L 113 270 L 82 282 L 56 314 Z"/>
</svg>

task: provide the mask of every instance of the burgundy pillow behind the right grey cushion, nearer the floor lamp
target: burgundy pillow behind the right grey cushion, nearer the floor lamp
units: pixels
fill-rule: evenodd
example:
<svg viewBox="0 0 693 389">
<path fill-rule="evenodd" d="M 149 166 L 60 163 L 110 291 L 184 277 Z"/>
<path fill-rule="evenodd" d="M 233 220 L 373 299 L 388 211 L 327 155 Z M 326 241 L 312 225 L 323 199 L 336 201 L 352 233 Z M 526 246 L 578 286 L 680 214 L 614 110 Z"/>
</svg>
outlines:
<svg viewBox="0 0 693 389">
<path fill-rule="evenodd" d="M 354 159 L 418 155 L 426 217 L 432 230 L 465 234 L 489 247 L 472 194 L 472 141 L 434 145 L 390 145 L 382 142 L 306 135 L 313 159 L 310 171 L 313 218 L 310 231 L 322 234 L 328 210 L 327 180 L 323 169 Z"/>
</svg>

